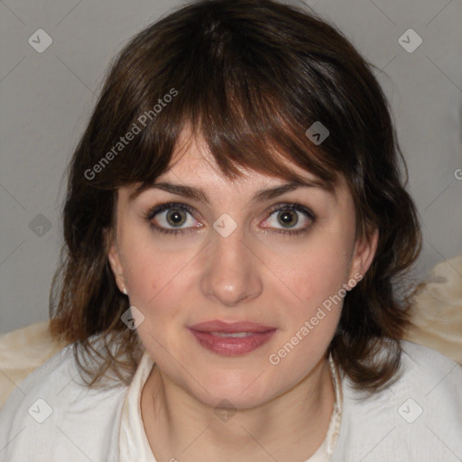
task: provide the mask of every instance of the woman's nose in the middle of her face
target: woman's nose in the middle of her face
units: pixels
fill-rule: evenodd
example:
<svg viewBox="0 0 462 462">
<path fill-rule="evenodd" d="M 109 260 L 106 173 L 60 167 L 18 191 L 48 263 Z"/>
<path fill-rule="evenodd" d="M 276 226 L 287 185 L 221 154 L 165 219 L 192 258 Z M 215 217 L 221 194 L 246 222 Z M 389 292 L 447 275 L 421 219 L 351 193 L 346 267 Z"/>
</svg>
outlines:
<svg viewBox="0 0 462 462">
<path fill-rule="evenodd" d="M 263 290 L 261 260 L 239 226 L 230 236 L 214 232 L 202 255 L 201 290 L 208 298 L 232 308 L 253 300 Z"/>
</svg>

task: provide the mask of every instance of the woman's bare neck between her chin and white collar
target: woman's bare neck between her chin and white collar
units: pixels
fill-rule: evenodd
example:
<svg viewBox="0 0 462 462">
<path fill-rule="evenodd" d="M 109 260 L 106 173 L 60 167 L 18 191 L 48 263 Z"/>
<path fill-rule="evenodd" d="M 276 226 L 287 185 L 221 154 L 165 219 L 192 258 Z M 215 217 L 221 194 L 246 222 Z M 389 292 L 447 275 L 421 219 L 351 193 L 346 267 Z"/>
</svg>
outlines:
<svg viewBox="0 0 462 462">
<path fill-rule="evenodd" d="M 335 393 L 324 358 L 300 383 L 251 409 L 214 409 L 155 365 L 143 387 L 143 424 L 157 460 L 305 461 L 326 438 Z"/>
</svg>

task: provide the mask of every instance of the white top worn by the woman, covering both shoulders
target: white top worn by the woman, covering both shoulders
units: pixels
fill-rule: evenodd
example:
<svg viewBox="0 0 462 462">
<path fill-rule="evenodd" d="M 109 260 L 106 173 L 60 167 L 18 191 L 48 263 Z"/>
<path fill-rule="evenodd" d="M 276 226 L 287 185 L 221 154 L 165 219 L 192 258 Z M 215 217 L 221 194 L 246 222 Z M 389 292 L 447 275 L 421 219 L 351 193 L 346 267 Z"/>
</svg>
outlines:
<svg viewBox="0 0 462 462">
<path fill-rule="evenodd" d="M 401 378 L 372 398 L 358 401 L 341 372 L 342 418 L 331 462 L 461 460 L 462 368 L 430 348 L 406 341 L 402 348 Z M 151 370 L 149 358 L 143 356 L 143 361 L 134 376 L 138 383 L 91 390 L 79 383 L 71 346 L 63 348 L 5 402 L 0 411 L 0 461 L 116 462 L 119 447 L 149 448 L 141 411 L 134 423 L 131 420 L 139 409 L 138 397 L 135 412 L 133 402 L 127 404 L 128 415 L 124 410 L 131 392 L 138 396 Z M 149 462 L 152 453 L 145 454 L 125 460 Z"/>
</svg>

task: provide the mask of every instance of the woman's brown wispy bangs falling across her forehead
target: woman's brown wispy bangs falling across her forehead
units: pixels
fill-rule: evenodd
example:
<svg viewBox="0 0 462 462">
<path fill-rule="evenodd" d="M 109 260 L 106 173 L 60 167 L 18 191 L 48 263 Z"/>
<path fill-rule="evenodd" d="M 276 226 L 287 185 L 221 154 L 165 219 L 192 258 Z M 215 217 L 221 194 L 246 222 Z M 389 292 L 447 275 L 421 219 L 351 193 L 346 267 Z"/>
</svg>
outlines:
<svg viewBox="0 0 462 462">
<path fill-rule="evenodd" d="M 196 101 L 179 95 L 171 108 L 146 127 L 131 162 L 125 164 L 124 170 L 130 173 L 124 185 L 141 182 L 139 190 L 148 188 L 173 161 L 178 162 L 189 141 L 200 139 L 227 179 L 235 180 L 244 169 L 283 180 L 305 180 L 291 168 L 294 162 L 310 171 L 322 188 L 335 188 L 334 166 L 326 153 L 310 145 L 303 127 L 282 114 L 277 101 L 263 96 L 261 88 L 251 87 L 252 82 L 246 88 L 236 88 L 229 80 L 226 84 L 233 87 L 220 94 L 208 88 L 196 94 Z"/>
</svg>

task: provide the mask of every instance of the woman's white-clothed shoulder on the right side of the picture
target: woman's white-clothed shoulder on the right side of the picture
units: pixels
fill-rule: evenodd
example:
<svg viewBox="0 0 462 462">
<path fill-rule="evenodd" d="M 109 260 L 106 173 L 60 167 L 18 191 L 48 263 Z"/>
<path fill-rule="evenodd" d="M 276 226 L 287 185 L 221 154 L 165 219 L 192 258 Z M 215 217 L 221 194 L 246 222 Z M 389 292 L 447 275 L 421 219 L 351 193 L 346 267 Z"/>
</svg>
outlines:
<svg viewBox="0 0 462 462">
<path fill-rule="evenodd" d="M 462 455 L 461 365 L 429 347 L 402 341 L 400 372 L 395 383 L 369 398 L 344 377 L 334 461 L 417 462 Z"/>
</svg>

